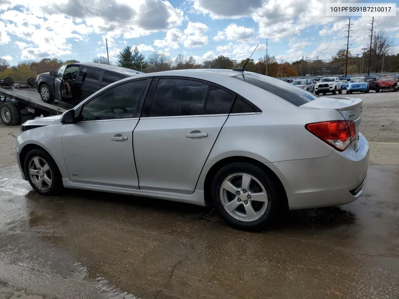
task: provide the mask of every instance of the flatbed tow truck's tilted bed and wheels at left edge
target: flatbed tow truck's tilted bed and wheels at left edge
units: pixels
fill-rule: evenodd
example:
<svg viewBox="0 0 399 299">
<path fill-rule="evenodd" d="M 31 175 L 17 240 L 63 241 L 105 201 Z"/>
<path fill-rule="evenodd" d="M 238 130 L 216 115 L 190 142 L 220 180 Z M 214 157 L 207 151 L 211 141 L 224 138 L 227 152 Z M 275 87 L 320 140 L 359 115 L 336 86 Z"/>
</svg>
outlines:
<svg viewBox="0 0 399 299">
<path fill-rule="evenodd" d="M 62 114 L 73 108 L 65 106 L 66 103 L 47 104 L 34 88 L 19 83 L 0 85 L 0 120 L 6 126 L 19 125 L 38 116 Z"/>
</svg>

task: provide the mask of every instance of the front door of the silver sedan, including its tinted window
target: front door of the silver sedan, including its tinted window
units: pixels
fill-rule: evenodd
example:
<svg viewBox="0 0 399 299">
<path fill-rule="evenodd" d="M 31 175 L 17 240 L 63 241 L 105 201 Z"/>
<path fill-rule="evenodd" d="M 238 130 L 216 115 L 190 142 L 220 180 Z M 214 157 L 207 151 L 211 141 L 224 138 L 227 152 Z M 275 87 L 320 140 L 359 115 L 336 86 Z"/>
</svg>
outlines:
<svg viewBox="0 0 399 299">
<path fill-rule="evenodd" d="M 138 188 L 132 135 L 150 81 L 122 83 L 77 109 L 78 122 L 67 124 L 62 136 L 70 181 Z"/>
</svg>

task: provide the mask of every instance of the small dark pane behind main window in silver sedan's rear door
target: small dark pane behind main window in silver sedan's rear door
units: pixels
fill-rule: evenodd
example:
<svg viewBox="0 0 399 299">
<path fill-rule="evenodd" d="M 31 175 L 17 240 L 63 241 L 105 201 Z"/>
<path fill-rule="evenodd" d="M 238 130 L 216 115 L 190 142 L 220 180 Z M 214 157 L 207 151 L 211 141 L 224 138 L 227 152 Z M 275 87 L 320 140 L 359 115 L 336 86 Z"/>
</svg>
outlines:
<svg viewBox="0 0 399 299">
<path fill-rule="evenodd" d="M 203 114 L 228 114 L 233 105 L 235 95 L 211 86 L 209 96 L 206 101 L 205 112 Z"/>
</svg>

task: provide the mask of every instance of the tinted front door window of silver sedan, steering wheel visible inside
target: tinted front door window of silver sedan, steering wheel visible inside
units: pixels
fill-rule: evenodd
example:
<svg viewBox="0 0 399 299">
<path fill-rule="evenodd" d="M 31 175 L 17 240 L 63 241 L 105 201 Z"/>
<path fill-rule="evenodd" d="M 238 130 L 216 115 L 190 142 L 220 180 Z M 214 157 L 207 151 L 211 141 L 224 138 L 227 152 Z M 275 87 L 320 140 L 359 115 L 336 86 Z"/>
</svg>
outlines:
<svg viewBox="0 0 399 299">
<path fill-rule="evenodd" d="M 103 92 L 83 106 L 81 121 L 133 118 L 138 102 L 144 100 L 150 81 L 126 82 Z"/>
</svg>

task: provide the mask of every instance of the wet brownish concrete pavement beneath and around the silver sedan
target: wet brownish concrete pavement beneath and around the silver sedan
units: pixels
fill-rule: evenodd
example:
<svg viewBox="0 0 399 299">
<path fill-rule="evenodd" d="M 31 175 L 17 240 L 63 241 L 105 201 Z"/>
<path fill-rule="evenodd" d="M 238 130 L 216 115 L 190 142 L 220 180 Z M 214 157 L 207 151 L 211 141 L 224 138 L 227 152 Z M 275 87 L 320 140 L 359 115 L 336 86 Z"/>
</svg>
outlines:
<svg viewBox="0 0 399 299">
<path fill-rule="evenodd" d="M 42 197 L 3 168 L 0 299 L 398 299 L 398 181 L 399 166 L 370 165 L 354 203 L 290 211 L 248 233 L 181 203 Z"/>
</svg>

